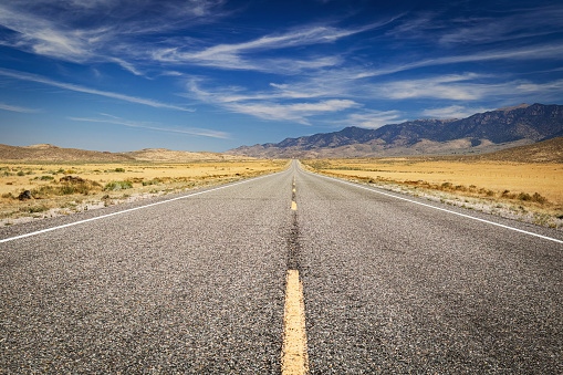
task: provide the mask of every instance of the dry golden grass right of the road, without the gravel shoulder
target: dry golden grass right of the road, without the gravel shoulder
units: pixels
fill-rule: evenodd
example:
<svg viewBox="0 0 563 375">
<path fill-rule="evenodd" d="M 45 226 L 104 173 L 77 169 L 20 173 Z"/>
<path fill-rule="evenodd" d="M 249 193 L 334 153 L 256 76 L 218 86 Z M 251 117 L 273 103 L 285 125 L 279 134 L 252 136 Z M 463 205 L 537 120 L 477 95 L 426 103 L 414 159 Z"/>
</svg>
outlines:
<svg viewBox="0 0 563 375">
<path fill-rule="evenodd" d="M 513 202 L 526 209 L 563 215 L 563 164 L 456 162 L 423 158 L 309 159 L 327 175 L 367 181 L 393 181 L 466 197 Z"/>
</svg>

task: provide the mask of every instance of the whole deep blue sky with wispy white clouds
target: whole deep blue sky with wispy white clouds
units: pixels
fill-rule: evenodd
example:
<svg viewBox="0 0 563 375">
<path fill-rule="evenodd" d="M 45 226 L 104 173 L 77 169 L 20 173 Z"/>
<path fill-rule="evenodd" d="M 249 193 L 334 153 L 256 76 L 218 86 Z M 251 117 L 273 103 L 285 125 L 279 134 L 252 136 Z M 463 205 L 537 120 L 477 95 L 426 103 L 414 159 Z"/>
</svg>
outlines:
<svg viewBox="0 0 563 375">
<path fill-rule="evenodd" d="M 556 1 L 0 1 L 0 144 L 241 145 L 563 104 Z"/>
</svg>

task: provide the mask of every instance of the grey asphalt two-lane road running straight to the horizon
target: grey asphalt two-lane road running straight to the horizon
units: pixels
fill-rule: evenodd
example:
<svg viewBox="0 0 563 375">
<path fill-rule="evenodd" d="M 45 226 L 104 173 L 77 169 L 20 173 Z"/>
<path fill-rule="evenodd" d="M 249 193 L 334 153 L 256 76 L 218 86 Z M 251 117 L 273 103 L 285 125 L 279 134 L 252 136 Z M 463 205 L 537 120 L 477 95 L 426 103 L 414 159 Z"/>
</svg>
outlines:
<svg viewBox="0 0 563 375">
<path fill-rule="evenodd" d="M 312 374 L 561 373 L 562 240 L 296 163 L 7 227 L 0 373 L 279 374 L 290 284 Z"/>
</svg>

